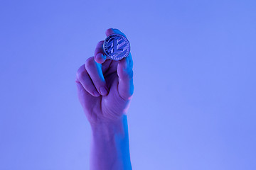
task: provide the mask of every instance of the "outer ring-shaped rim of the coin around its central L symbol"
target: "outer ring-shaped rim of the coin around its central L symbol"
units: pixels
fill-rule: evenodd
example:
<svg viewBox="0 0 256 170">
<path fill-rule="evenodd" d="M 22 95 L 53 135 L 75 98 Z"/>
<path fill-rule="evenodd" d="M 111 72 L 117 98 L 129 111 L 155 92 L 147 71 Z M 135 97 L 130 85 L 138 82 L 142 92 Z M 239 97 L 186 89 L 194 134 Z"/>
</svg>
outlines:
<svg viewBox="0 0 256 170">
<path fill-rule="evenodd" d="M 126 42 L 127 44 L 127 52 L 122 56 L 122 57 L 113 57 L 112 55 L 110 55 L 110 53 L 107 51 L 107 43 L 108 43 L 108 40 L 110 40 L 110 38 L 113 38 L 113 37 L 120 37 L 120 38 L 123 38 L 124 41 Z M 124 57 L 127 57 L 129 55 L 129 52 L 131 50 L 131 47 L 130 47 L 130 44 L 129 44 L 129 40 L 127 40 L 127 38 L 122 35 L 122 34 L 117 34 L 117 33 L 114 33 L 114 34 L 111 34 L 109 36 L 107 36 L 107 38 L 104 40 L 103 42 L 103 50 L 105 52 L 105 54 L 110 57 L 110 59 L 112 60 L 122 60 L 122 58 Z"/>
</svg>

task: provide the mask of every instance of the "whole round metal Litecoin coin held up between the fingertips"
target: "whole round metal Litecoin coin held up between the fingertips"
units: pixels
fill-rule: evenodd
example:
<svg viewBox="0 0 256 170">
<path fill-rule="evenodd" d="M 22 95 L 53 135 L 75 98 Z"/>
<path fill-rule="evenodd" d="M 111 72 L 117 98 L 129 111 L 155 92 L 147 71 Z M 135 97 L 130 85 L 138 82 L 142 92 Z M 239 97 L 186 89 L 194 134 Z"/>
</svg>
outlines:
<svg viewBox="0 0 256 170">
<path fill-rule="evenodd" d="M 107 56 L 112 60 L 122 60 L 127 57 L 130 52 L 130 44 L 127 38 L 121 34 L 109 35 L 104 43 L 103 49 Z"/>
</svg>

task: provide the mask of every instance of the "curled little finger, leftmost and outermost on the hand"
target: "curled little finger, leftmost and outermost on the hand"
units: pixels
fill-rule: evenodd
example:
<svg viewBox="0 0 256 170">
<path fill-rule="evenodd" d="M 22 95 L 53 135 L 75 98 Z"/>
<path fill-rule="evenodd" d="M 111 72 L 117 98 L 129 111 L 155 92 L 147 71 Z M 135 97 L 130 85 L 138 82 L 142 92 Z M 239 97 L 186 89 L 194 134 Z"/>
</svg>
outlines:
<svg viewBox="0 0 256 170">
<path fill-rule="evenodd" d="M 98 97 L 100 94 L 97 92 L 97 89 L 95 88 L 94 84 L 92 83 L 92 79 L 90 79 L 90 76 L 88 72 L 85 69 L 85 64 L 83 64 L 76 74 L 76 83 L 77 86 L 81 89 L 82 87 L 92 96 Z"/>
</svg>

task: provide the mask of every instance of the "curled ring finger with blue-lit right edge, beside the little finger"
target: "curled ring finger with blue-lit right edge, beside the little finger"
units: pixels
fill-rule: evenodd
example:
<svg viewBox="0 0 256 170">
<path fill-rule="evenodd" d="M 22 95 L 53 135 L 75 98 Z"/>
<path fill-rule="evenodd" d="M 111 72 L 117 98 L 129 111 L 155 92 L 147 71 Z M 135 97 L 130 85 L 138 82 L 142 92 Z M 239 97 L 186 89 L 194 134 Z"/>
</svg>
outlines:
<svg viewBox="0 0 256 170">
<path fill-rule="evenodd" d="M 102 64 L 95 62 L 94 57 L 90 57 L 85 62 L 85 69 L 97 91 L 102 96 L 106 96 L 108 94 L 108 88 L 102 73 Z"/>
</svg>

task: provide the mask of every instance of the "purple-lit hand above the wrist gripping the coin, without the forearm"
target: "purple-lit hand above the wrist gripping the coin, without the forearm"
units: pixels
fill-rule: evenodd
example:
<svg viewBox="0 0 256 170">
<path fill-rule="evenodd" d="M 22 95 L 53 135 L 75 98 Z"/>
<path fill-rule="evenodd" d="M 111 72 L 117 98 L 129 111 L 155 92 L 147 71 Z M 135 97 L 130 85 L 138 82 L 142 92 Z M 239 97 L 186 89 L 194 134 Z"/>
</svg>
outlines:
<svg viewBox="0 0 256 170">
<path fill-rule="evenodd" d="M 124 35 L 117 29 L 106 30 L 107 36 L 113 33 Z M 95 56 L 78 69 L 75 79 L 78 98 L 91 125 L 119 120 L 127 113 L 134 92 L 132 55 L 110 60 L 103 42 L 97 43 Z"/>
</svg>

